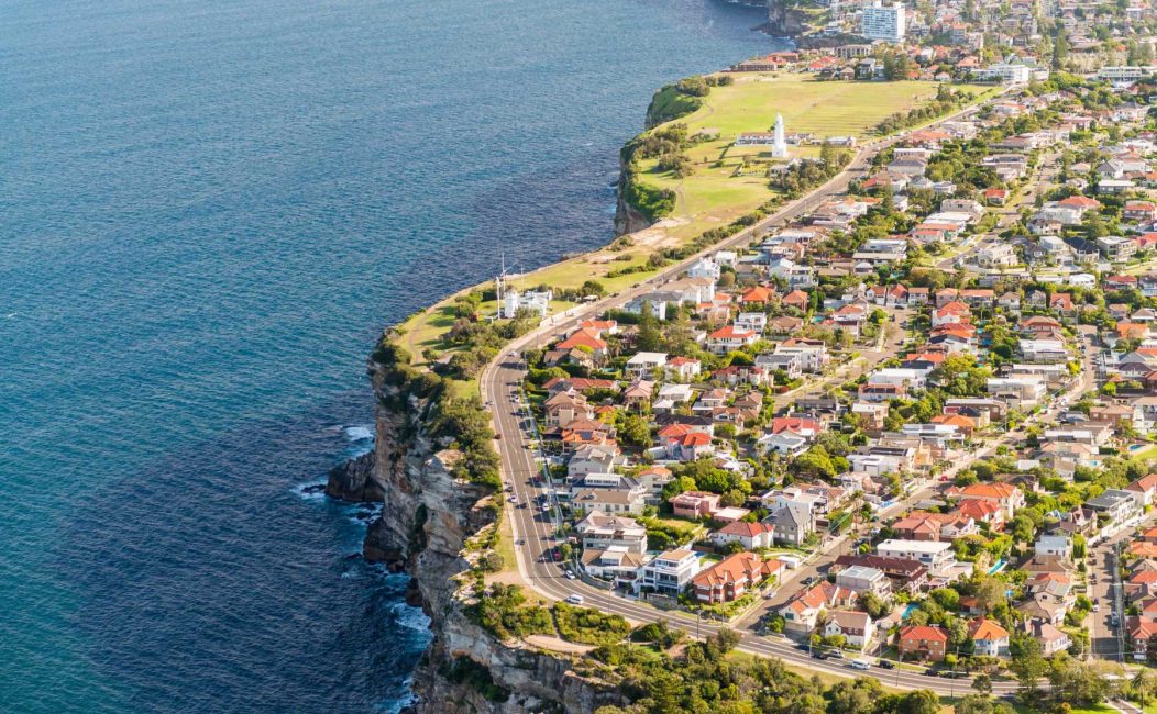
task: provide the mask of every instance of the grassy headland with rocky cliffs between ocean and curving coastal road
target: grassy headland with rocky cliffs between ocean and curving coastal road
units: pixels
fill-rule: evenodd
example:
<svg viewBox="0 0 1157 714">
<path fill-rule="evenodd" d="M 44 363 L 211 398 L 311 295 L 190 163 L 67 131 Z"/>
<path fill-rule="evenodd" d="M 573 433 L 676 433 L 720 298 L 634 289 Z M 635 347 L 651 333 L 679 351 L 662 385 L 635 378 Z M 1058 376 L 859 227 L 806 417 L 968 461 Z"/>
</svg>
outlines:
<svg viewBox="0 0 1157 714">
<path fill-rule="evenodd" d="M 676 630 L 710 635 L 710 647 L 735 648 L 717 627 L 657 610 L 624 617 L 550 605 L 561 596 L 540 585 L 538 566 L 521 552 L 515 511 L 502 492 L 513 473 L 536 468 L 511 461 L 518 449 L 494 430 L 494 417 L 510 407 L 502 392 L 513 374 L 508 355 L 545 344 L 567 326 L 676 276 L 699 255 L 750 241 L 842 193 L 893 141 L 880 128 L 886 118 L 907 118 L 901 126 L 913 128 L 970 111 L 993 91 L 950 87 L 945 94 L 930 82 L 861 85 L 781 73 L 697 77 L 684 84 L 691 92 L 678 87 L 656 95 L 649 128 L 624 149 L 620 215 L 633 213 L 635 228 L 640 218 L 650 225 L 602 250 L 504 277 L 507 291 L 545 296 L 548 317 L 493 319 L 495 285 L 478 285 L 388 329 L 371 355 L 375 447 L 336 469 L 327 492 L 384 501 L 364 555 L 413 575 L 411 600 L 429 613 L 435 635 L 415 672 L 419 712 L 577 713 L 625 705 L 629 675 L 583 652 L 621 640 L 632 623 L 671 620 Z M 931 116 L 921 111 L 931 106 Z M 764 148 L 736 146 L 740 134 L 767 132 L 776 114 L 794 135 L 791 151 L 810 161 L 789 164 Z M 670 194 L 673 201 L 654 201 Z M 591 629 L 604 634 L 594 637 Z M 738 645 L 730 656 L 783 655 Z M 767 665 L 779 680 L 797 677 L 779 662 Z M 824 677 L 838 682 L 834 671 Z M 905 678 L 900 689 L 916 686 Z"/>
</svg>

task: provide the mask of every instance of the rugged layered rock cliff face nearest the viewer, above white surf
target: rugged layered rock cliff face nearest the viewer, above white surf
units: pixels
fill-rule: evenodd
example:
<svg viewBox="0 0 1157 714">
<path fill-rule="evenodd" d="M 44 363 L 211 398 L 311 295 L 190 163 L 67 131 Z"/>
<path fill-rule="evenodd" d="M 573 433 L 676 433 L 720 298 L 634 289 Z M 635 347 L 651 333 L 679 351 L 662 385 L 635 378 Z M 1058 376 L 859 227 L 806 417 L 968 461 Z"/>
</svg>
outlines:
<svg viewBox="0 0 1157 714">
<path fill-rule="evenodd" d="M 565 657 L 507 646 L 471 622 L 456 577 L 469 568 L 466 540 L 494 522 L 492 494 L 456 479 L 462 455 L 432 439 L 425 426 L 429 404 L 404 396 L 371 372 L 377 396 L 374 451 L 330 474 L 326 493 L 345 500 L 383 503 L 366 535 L 368 560 L 411 573 L 408 600 L 420 604 L 434 633 L 414 672 L 420 714 L 514 714 L 591 712 L 617 702 L 613 690 L 580 677 Z M 495 685 L 455 677 L 469 660 Z M 481 669 L 478 669 L 481 668 Z"/>
</svg>

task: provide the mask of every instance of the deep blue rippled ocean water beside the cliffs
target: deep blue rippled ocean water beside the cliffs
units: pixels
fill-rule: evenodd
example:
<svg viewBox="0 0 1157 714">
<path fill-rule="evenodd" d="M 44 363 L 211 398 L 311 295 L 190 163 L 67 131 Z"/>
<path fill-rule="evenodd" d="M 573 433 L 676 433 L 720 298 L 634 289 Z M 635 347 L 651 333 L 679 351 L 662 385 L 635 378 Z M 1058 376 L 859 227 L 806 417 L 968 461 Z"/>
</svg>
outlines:
<svg viewBox="0 0 1157 714">
<path fill-rule="evenodd" d="M 609 239 L 717 0 L 0 0 L 0 711 L 397 708 L 356 508 L 382 326 Z"/>
</svg>

